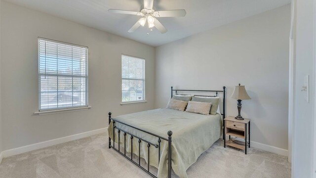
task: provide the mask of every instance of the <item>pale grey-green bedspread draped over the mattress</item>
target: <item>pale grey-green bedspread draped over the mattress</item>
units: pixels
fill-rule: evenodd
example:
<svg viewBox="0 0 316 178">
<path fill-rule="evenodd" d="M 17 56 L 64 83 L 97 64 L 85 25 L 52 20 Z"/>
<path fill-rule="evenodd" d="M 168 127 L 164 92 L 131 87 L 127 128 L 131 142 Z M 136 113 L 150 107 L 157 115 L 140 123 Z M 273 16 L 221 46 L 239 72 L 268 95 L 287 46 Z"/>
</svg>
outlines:
<svg viewBox="0 0 316 178">
<path fill-rule="evenodd" d="M 167 132 L 172 131 L 172 170 L 180 178 L 188 178 L 186 170 L 197 161 L 198 156 L 206 151 L 221 136 L 222 119 L 220 114 L 201 115 L 173 109 L 161 108 L 126 114 L 116 117 L 118 121 L 136 128 L 158 134 L 167 138 Z M 158 144 L 158 138 L 138 131 L 118 122 L 118 128 L 139 136 L 147 141 Z M 113 122 L 108 132 L 113 139 Z M 130 136 L 126 135 L 127 152 L 131 152 Z M 113 141 L 112 141 L 113 142 Z M 118 130 L 115 130 L 115 142 L 118 143 Z M 113 144 L 113 143 L 112 143 Z M 120 145 L 124 145 L 124 135 L 120 133 Z M 117 146 L 117 145 L 116 145 Z M 138 139 L 133 139 L 133 153 L 138 155 Z M 158 148 L 150 147 L 150 165 L 158 168 L 158 178 L 167 177 L 168 142 L 161 140 L 160 163 L 158 164 Z M 141 142 L 141 157 L 147 162 L 147 143 Z"/>
</svg>

